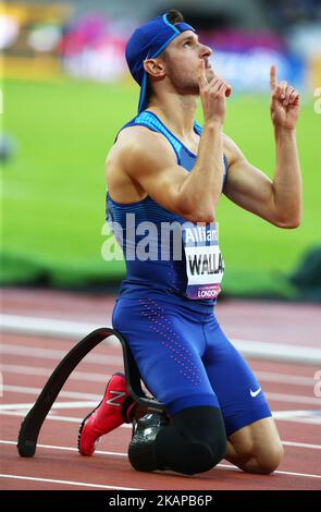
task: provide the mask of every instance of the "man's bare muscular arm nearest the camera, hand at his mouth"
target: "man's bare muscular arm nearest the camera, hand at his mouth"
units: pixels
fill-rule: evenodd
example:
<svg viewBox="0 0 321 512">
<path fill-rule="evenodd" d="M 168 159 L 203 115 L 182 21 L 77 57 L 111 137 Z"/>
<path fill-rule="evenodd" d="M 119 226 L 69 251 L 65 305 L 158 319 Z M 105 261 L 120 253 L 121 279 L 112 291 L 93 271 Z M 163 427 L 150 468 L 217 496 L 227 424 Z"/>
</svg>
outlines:
<svg viewBox="0 0 321 512">
<path fill-rule="evenodd" d="M 193 170 L 178 166 L 162 135 L 146 129 L 135 129 L 135 138 L 122 151 L 122 168 L 168 210 L 192 222 L 211 222 L 224 174 L 222 129 L 229 86 L 217 76 L 208 83 L 203 66 L 199 84 L 205 123 Z"/>
</svg>

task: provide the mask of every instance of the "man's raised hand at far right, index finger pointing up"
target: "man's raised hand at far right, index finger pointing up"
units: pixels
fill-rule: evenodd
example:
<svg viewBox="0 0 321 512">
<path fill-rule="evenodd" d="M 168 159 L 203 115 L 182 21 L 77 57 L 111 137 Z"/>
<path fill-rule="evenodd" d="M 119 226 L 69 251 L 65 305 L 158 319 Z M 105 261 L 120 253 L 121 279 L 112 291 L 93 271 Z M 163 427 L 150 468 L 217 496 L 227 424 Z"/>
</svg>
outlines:
<svg viewBox="0 0 321 512">
<path fill-rule="evenodd" d="M 270 70 L 271 119 L 275 127 L 294 130 L 299 114 L 299 93 L 287 85 L 276 82 L 276 68 Z"/>
</svg>

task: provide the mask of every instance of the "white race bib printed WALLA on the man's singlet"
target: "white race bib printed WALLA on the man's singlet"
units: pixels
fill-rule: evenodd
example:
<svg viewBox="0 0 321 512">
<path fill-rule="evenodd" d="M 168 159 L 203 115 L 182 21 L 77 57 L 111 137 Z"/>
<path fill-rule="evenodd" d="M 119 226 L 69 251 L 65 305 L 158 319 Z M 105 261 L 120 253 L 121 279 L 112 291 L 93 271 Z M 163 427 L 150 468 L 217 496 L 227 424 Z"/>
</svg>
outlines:
<svg viewBox="0 0 321 512">
<path fill-rule="evenodd" d="M 186 222 L 182 225 L 182 239 L 186 256 L 186 296 L 193 300 L 215 298 L 224 273 L 217 224 Z"/>
</svg>

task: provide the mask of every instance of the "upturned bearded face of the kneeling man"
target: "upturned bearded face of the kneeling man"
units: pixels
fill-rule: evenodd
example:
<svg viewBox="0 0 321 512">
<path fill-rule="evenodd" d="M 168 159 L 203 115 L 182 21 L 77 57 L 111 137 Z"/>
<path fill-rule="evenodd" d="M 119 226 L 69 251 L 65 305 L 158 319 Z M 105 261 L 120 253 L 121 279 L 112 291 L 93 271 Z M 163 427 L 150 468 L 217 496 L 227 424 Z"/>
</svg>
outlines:
<svg viewBox="0 0 321 512">
<path fill-rule="evenodd" d="M 212 50 L 198 41 L 193 31 L 183 32 L 175 37 L 165 50 L 166 76 L 181 94 L 199 94 L 198 78 L 200 61 L 206 64 L 208 81 L 213 78 L 214 72 L 209 58 Z"/>
</svg>

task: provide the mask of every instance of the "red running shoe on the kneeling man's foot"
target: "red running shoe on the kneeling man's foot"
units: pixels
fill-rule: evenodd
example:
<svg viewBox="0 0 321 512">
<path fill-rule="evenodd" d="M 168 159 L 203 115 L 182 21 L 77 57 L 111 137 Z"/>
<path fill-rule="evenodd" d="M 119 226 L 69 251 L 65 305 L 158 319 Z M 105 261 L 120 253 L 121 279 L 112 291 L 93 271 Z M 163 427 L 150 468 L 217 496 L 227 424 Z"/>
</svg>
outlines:
<svg viewBox="0 0 321 512">
<path fill-rule="evenodd" d="M 107 385 L 103 399 L 81 425 L 79 453 L 92 455 L 98 438 L 120 427 L 123 423 L 131 423 L 131 413 L 136 403 L 128 393 L 125 376 L 120 373 L 114 374 Z"/>
</svg>

